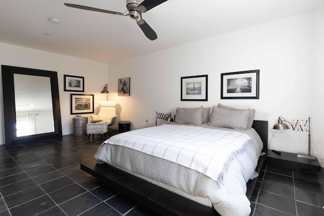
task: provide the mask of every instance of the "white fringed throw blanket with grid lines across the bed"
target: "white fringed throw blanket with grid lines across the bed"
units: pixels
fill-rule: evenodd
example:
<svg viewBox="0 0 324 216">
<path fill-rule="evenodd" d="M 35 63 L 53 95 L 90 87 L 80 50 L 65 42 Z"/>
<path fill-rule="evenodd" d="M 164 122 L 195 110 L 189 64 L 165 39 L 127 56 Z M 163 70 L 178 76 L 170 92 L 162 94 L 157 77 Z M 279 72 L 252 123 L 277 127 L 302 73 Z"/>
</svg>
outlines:
<svg viewBox="0 0 324 216">
<path fill-rule="evenodd" d="M 222 184 L 230 162 L 252 145 L 252 139 L 236 131 L 162 125 L 117 134 L 105 143 L 180 164 Z"/>
</svg>

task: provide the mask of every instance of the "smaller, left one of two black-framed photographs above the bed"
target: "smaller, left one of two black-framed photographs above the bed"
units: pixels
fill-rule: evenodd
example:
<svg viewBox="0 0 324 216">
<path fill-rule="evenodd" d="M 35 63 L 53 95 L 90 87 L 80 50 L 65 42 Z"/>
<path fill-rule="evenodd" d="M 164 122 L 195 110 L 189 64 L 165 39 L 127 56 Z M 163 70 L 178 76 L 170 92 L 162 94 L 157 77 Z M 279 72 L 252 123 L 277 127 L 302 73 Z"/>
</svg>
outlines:
<svg viewBox="0 0 324 216">
<path fill-rule="evenodd" d="M 181 100 L 208 101 L 208 75 L 181 77 Z"/>
</svg>

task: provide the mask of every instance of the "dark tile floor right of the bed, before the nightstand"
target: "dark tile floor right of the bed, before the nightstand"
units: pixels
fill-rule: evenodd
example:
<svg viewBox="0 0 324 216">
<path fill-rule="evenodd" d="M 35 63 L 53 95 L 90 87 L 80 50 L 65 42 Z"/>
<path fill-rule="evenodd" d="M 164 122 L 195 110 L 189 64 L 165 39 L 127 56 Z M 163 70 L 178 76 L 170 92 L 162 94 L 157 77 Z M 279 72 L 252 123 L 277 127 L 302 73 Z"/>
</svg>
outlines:
<svg viewBox="0 0 324 216">
<path fill-rule="evenodd" d="M 324 169 L 292 171 L 265 165 L 251 215 L 324 215 Z"/>
</svg>

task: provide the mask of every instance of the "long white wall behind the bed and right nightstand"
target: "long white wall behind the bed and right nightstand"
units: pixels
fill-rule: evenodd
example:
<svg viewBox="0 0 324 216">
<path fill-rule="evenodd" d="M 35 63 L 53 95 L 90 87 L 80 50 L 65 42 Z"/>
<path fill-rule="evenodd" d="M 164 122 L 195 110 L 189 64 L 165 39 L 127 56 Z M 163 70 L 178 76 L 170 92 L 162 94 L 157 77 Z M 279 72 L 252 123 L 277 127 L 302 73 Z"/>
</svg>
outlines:
<svg viewBox="0 0 324 216">
<path fill-rule="evenodd" d="M 256 109 L 269 121 L 269 148 L 307 153 L 307 133 L 277 131 L 279 115 L 312 119 L 312 155 L 324 161 L 323 42 L 324 10 L 274 21 L 183 46 L 109 64 L 109 97 L 132 129 L 155 125 L 155 110 L 175 114 L 179 107 L 223 103 Z M 211 26 L 213 27 L 213 26 Z M 217 27 L 217 26 L 215 26 Z M 220 74 L 260 69 L 260 99 L 220 99 Z M 180 79 L 208 75 L 208 101 L 180 101 Z M 131 78 L 131 96 L 117 96 L 117 79 Z"/>
</svg>

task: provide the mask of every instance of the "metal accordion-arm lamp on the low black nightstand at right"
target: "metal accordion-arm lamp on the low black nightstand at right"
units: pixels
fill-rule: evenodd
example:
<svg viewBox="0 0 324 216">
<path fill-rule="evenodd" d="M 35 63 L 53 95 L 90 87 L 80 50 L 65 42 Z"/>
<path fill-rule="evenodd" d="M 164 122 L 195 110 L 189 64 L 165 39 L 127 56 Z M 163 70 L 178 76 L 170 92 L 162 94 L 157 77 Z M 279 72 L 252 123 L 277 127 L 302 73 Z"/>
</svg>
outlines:
<svg viewBox="0 0 324 216">
<path fill-rule="evenodd" d="M 299 131 L 299 129 L 301 129 L 301 131 L 304 131 L 304 130 L 306 132 L 308 131 L 308 155 L 298 154 L 297 157 L 316 160 L 316 157 L 312 156 L 310 154 L 310 117 L 308 117 L 308 120 L 306 120 L 305 122 L 304 122 L 304 120 L 301 120 L 301 121 L 297 120 L 297 122 L 295 124 L 295 120 L 293 120 L 293 122 L 291 123 L 291 122 L 287 121 L 284 117 L 279 116 L 278 123 L 276 123 L 273 126 L 274 130 L 286 130 L 286 129 L 290 128 L 286 123 L 284 123 L 282 121 L 281 118 L 284 119 L 284 122 L 288 122 L 292 126 L 293 130 L 295 130 L 297 128 L 298 131 Z M 308 122 L 308 129 L 305 127 L 307 122 Z"/>
</svg>

